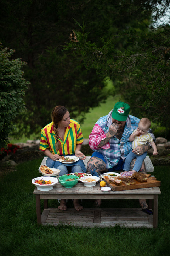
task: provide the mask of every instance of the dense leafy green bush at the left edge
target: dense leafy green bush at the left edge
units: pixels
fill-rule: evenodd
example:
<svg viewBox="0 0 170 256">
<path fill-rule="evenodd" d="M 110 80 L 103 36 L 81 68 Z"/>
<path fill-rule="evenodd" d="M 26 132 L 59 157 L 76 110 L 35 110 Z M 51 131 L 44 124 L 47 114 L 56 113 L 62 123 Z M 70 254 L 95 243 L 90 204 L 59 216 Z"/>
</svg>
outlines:
<svg viewBox="0 0 170 256">
<path fill-rule="evenodd" d="M 14 51 L 0 45 L 0 148 L 8 142 L 12 121 L 23 111 L 23 96 L 29 82 L 23 78 L 21 59 L 11 59 Z"/>
</svg>

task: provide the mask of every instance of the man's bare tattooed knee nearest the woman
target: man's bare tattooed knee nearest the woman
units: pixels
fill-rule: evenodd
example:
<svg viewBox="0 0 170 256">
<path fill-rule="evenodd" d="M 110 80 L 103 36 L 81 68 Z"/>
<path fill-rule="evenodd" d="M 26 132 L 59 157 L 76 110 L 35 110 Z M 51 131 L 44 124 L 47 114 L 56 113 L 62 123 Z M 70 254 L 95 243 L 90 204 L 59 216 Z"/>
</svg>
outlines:
<svg viewBox="0 0 170 256">
<path fill-rule="evenodd" d="M 97 174 L 97 176 L 100 176 L 101 172 L 105 169 L 105 162 L 96 156 L 90 158 L 90 160 L 87 162 L 87 173 L 91 173 L 92 175 Z"/>
</svg>

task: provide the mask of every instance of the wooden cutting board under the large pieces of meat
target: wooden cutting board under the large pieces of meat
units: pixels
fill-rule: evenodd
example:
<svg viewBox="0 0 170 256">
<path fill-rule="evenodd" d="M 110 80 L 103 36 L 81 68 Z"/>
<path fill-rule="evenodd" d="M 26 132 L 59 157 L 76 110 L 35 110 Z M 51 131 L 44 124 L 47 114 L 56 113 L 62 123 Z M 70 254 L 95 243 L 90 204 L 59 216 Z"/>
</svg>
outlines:
<svg viewBox="0 0 170 256">
<path fill-rule="evenodd" d="M 110 182 L 108 178 L 105 179 L 106 185 L 111 187 L 112 191 L 121 191 L 121 190 L 132 190 L 136 188 L 148 188 L 148 187 L 160 187 L 160 181 L 157 181 L 155 177 L 149 177 L 150 174 L 147 175 L 147 182 L 139 182 L 136 179 L 133 179 L 136 183 L 133 185 L 125 185 L 121 183 L 120 186 L 115 185 L 114 183 Z M 130 178 L 130 177 L 129 177 Z"/>
</svg>

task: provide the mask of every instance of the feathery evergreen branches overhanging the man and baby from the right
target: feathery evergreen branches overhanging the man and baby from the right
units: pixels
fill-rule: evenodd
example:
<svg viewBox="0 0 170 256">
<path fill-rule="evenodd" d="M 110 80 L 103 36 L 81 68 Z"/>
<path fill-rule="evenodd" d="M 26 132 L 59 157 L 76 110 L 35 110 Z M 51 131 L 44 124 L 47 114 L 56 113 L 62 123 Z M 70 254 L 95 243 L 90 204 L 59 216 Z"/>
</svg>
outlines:
<svg viewBox="0 0 170 256">
<path fill-rule="evenodd" d="M 110 77 L 117 92 L 130 104 L 132 114 L 169 128 L 170 26 L 147 33 L 128 30 L 119 36 L 126 39 L 122 51 L 114 45 L 114 36 L 98 48 L 88 41 L 87 34 L 80 32 L 74 32 L 66 49 L 81 53 L 87 69 Z"/>
</svg>

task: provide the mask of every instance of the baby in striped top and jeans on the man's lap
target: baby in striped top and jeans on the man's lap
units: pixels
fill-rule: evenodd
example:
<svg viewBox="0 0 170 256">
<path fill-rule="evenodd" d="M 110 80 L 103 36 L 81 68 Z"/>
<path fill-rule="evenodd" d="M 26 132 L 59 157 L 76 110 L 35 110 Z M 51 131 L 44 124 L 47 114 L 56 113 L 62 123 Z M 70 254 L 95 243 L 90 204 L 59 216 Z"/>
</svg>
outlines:
<svg viewBox="0 0 170 256">
<path fill-rule="evenodd" d="M 132 141 L 132 150 L 134 150 L 137 146 L 141 146 L 149 142 L 153 148 L 153 155 L 157 155 L 157 147 L 151 137 L 151 135 L 147 132 L 151 127 L 151 121 L 148 118 L 142 118 L 138 123 L 137 130 L 134 130 L 132 134 L 129 136 L 129 140 Z M 147 152 L 142 155 L 136 155 L 131 152 L 126 156 L 124 172 L 121 173 L 122 176 L 131 176 L 134 172 L 138 172 L 142 166 L 143 160 L 146 158 Z M 130 170 L 131 161 L 136 158 L 135 165 L 132 171 Z"/>
</svg>

